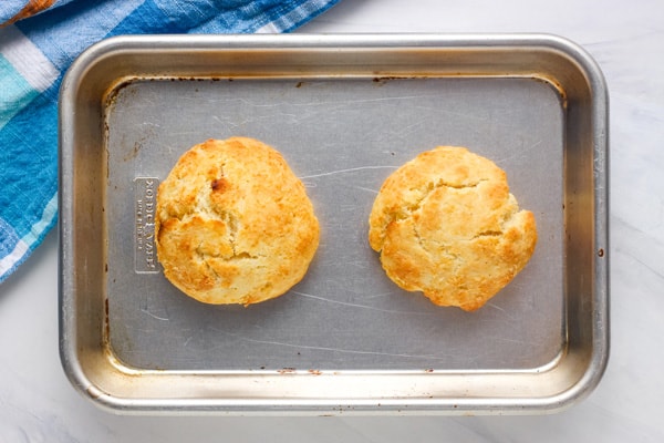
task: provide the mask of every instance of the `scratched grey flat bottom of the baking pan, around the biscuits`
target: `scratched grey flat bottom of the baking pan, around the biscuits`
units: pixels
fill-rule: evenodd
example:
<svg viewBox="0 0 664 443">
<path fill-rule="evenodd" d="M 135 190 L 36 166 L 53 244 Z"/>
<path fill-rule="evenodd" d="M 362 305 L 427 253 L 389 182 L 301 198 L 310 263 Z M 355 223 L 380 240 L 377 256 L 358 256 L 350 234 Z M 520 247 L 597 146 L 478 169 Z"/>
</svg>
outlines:
<svg viewBox="0 0 664 443">
<path fill-rule="evenodd" d="M 135 79 L 115 91 L 105 112 L 108 343 L 125 364 L 500 371 L 553 364 L 563 352 L 563 109 L 549 84 Z M 145 182 L 136 179 L 164 178 L 189 146 L 232 135 L 262 140 L 284 155 L 322 228 L 304 280 L 250 308 L 201 305 L 160 272 L 137 272 L 134 261 L 136 199 L 145 197 L 137 190 Z M 439 144 L 468 146 L 505 168 L 539 228 L 527 268 L 473 313 L 400 290 L 366 240 L 385 177 Z"/>
</svg>

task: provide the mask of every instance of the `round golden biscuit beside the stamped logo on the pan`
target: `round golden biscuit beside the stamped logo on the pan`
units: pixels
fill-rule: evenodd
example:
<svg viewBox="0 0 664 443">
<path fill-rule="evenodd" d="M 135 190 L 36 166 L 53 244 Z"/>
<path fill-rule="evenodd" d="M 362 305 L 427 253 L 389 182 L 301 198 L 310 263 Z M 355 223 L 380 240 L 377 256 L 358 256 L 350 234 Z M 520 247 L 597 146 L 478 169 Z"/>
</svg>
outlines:
<svg viewBox="0 0 664 443">
<path fill-rule="evenodd" d="M 159 185 L 155 240 L 164 275 L 183 292 L 248 306 L 303 278 L 319 223 L 279 152 L 252 138 L 208 140 Z"/>
</svg>

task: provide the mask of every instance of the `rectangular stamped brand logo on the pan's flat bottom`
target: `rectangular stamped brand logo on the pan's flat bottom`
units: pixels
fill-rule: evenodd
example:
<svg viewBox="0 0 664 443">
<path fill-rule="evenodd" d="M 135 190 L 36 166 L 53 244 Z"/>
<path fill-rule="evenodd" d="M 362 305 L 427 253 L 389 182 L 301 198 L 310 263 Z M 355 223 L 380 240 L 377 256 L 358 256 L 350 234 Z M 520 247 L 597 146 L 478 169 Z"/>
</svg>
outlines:
<svg viewBox="0 0 664 443">
<path fill-rule="evenodd" d="M 155 248 L 155 209 L 159 179 L 137 177 L 134 179 L 134 270 L 137 274 L 157 274 Z"/>
</svg>

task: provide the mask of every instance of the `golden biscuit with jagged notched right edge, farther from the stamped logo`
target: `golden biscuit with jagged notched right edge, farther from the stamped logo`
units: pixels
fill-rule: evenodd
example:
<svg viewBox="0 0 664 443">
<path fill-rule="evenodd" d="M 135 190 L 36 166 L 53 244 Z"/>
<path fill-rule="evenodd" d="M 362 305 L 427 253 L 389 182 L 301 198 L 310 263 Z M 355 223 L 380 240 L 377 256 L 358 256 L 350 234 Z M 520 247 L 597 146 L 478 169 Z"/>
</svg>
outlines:
<svg viewBox="0 0 664 443">
<path fill-rule="evenodd" d="M 509 284 L 537 243 L 535 216 L 519 210 L 505 172 L 465 147 L 439 146 L 395 171 L 369 223 L 397 286 L 466 311 Z"/>
</svg>

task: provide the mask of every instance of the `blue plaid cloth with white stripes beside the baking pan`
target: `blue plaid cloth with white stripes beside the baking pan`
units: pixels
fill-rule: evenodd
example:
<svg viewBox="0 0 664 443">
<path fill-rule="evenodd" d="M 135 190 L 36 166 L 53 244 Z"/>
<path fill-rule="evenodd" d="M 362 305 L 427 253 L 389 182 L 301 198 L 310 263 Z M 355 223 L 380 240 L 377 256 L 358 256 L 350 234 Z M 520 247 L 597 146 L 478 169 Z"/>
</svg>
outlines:
<svg viewBox="0 0 664 443">
<path fill-rule="evenodd" d="M 112 35 L 288 32 L 339 0 L 1 0 L 0 282 L 58 218 L 58 90 Z"/>
</svg>

